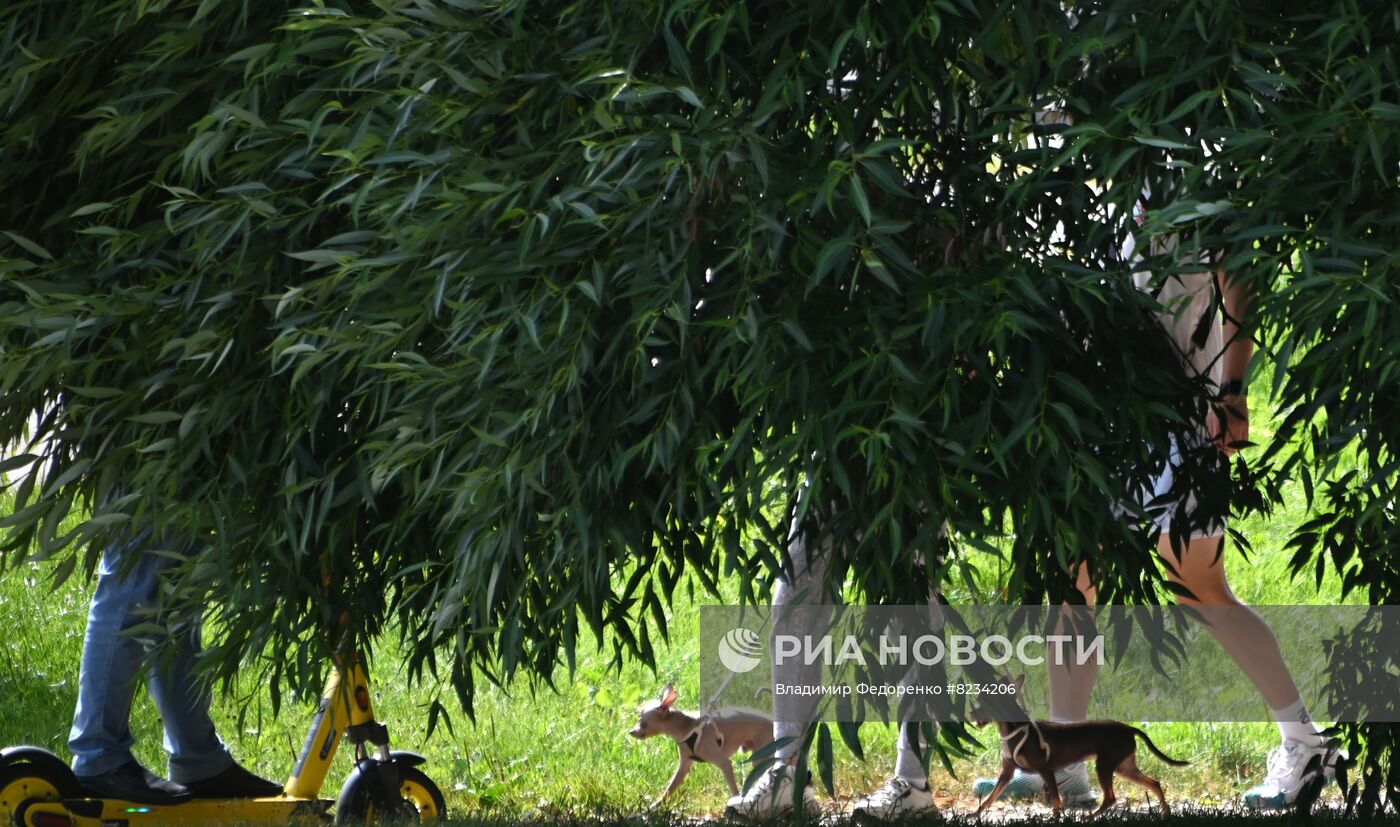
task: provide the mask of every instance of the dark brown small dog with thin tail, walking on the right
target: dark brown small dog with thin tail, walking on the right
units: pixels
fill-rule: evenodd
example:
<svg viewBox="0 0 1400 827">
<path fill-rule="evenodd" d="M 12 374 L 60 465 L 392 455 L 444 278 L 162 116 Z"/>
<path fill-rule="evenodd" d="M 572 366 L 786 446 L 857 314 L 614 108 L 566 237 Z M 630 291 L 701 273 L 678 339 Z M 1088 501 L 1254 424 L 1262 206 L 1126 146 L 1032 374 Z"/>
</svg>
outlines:
<svg viewBox="0 0 1400 827">
<path fill-rule="evenodd" d="M 1026 676 L 1015 680 L 1016 694 L 1026 683 Z M 1137 767 L 1137 739 L 1141 737 L 1147 749 L 1152 750 L 1173 767 L 1184 767 L 1189 761 L 1177 761 L 1156 749 L 1152 739 L 1145 732 L 1117 721 L 1082 721 L 1077 723 L 1054 723 L 1051 721 L 1019 721 L 1004 722 L 988 718 L 990 712 L 980 701 L 972 709 L 973 723 L 995 723 L 1001 733 L 1001 775 L 997 786 L 987 795 L 986 800 L 977 806 L 977 816 L 995 803 L 997 796 L 1011 782 L 1011 775 L 1016 767 L 1026 772 L 1037 772 L 1046 782 L 1046 792 L 1050 796 L 1050 806 L 1054 814 L 1061 810 L 1060 786 L 1054 774 L 1070 764 L 1098 757 L 1095 771 L 1099 775 L 1099 786 L 1103 788 L 1103 803 L 1093 814 L 1107 810 L 1117 800 L 1113 795 L 1113 775 L 1119 774 L 1128 781 L 1134 781 L 1156 793 L 1158 803 L 1162 805 L 1162 814 L 1172 809 L 1166 805 L 1162 785 L 1155 778 L 1147 775 Z"/>
</svg>

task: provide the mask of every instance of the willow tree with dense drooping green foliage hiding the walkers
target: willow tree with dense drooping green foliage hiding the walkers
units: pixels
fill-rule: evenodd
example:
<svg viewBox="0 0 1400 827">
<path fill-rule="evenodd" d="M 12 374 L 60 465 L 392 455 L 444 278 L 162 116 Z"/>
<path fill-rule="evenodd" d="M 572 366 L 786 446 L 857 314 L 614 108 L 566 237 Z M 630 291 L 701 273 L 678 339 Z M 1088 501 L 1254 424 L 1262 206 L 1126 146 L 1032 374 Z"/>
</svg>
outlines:
<svg viewBox="0 0 1400 827">
<path fill-rule="evenodd" d="M 1112 504 L 1210 400 L 1126 287 L 1145 189 L 1138 232 L 1253 284 L 1291 411 L 1236 509 L 1303 479 L 1298 568 L 1397 598 L 1390 4 L 0 18 L 6 561 L 193 542 L 162 617 L 209 606 L 218 672 L 305 681 L 346 612 L 468 705 L 651 659 L 678 584 L 766 599 L 794 521 L 869 600 L 979 547 L 1012 599 L 1082 558 L 1156 599 Z"/>
</svg>

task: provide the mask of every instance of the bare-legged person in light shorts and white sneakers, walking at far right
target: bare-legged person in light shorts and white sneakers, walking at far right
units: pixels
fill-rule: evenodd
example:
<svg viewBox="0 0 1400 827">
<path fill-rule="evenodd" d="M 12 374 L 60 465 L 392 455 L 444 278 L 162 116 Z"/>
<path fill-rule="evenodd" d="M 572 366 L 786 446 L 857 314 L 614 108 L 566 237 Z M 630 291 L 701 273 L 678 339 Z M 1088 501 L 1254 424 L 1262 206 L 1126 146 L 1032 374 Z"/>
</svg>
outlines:
<svg viewBox="0 0 1400 827">
<path fill-rule="evenodd" d="M 1138 202 L 1134 208 L 1137 225 L 1141 225 L 1144 214 L 1145 203 Z M 1210 624 L 1208 631 L 1250 679 L 1278 722 L 1280 746 L 1268 754 L 1263 782 L 1245 792 L 1245 805 L 1253 809 L 1288 807 L 1298 798 L 1312 757 L 1323 756 L 1326 760 L 1327 739 L 1312 719 L 1273 630 L 1231 589 L 1225 568 L 1224 519 L 1204 518 L 1193 493 L 1173 491 L 1175 472 L 1182 466 L 1186 451 L 1214 444 L 1219 452 L 1215 473 L 1228 474 L 1228 458 L 1238 451 L 1239 444 L 1249 439 L 1249 397 L 1245 383 L 1254 343 L 1243 332 L 1243 326 L 1249 319 L 1250 294 L 1243 284 L 1210 266 L 1194 250 L 1179 249 L 1176 236 L 1156 243 L 1159 246 L 1152 252 L 1175 259 L 1180 273 L 1155 277 L 1144 269 L 1144 256 L 1131 232 L 1123 242 L 1121 256 L 1135 264 L 1134 285 L 1152 292 L 1161 305 L 1158 318 L 1182 355 L 1186 376 L 1208 379 L 1210 386 L 1217 390 L 1217 403 L 1207 421 L 1201 423 L 1194 445 L 1172 446 L 1151 490 L 1142 493 L 1142 504 L 1152 504 L 1149 514 L 1158 529 L 1158 554 L 1168 579 L 1184 588 L 1184 593 L 1179 592 L 1177 602 L 1183 606 L 1231 609 L 1232 623 Z M 1197 519 L 1186 521 L 1190 528 L 1173 547 L 1170 535 L 1176 515 Z M 1092 605 L 1096 595 L 1088 567 L 1079 568 L 1078 585 L 1085 602 Z M 1070 667 L 1049 662 L 1050 719 L 1086 719 L 1098 676 L 1095 663 Z M 1056 781 L 1067 805 L 1084 806 L 1096 798 L 1088 767 L 1082 763 L 1061 770 Z M 993 786 L 994 779 L 980 778 L 973 785 L 973 793 L 980 798 Z M 1036 798 L 1043 792 L 1044 782 L 1037 774 L 1018 772 L 1004 795 Z"/>
</svg>

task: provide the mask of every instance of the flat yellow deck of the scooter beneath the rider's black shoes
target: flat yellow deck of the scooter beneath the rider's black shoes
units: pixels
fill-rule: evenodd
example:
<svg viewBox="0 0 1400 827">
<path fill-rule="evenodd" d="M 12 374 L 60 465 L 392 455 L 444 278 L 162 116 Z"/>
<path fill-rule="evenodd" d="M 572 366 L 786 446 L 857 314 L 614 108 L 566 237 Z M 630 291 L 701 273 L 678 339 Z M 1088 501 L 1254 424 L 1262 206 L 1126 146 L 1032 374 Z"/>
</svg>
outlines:
<svg viewBox="0 0 1400 827">
<path fill-rule="evenodd" d="M 178 805 L 143 805 L 120 799 L 35 802 L 22 814 L 25 827 L 144 827 L 157 824 L 287 824 L 328 820 L 329 799 L 252 798 L 192 799 Z"/>
</svg>

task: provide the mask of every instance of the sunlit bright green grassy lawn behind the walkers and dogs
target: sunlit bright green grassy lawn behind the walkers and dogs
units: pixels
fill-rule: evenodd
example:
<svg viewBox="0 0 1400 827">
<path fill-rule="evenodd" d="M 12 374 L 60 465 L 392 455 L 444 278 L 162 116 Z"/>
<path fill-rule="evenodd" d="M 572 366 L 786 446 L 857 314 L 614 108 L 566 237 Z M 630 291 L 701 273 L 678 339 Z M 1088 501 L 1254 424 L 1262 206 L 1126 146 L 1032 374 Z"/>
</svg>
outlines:
<svg viewBox="0 0 1400 827">
<path fill-rule="evenodd" d="M 1256 439 L 1267 435 L 1267 421 L 1256 424 Z M 1256 605 L 1336 603 L 1336 578 L 1315 588 L 1310 578 L 1291 581 L 1282 549 L 1289 530 L 1303 519 L 1301 494 L 1271 522 L 1243 525 L 1254 551 L 1246 560 L 1231 551 L 1228 565 L 1235 591 Z M 6 511 L 0 505 L 0 512 Z M 988 560 L 994 572 L 997 561 Z M 699 612 L 680 589 L 671 616 L 669 648 L 659 651 L 657 672 L 629 663 L 620 672 L 608 667 L 608 655 L 580 653 L 571 679 L 560 674 L 560 693 L 532 693 L 526 686 L 510 693 L 479 681 L 476 722 L 454 716 L 452 729 L 426 736 L 427 705 L 437 687 L 406 684 L 391 646 L 375 652 L 375 708 L 389 725 L 395 744 L 424 753 L 426 770 L 440 782 L 451 812 L 482 823 L 528 816 L 615 817 L 638 813 L 665 786 L 676 764 L 669 742 L 636 742 L 627 730 L 637 705 L 673 680 L 680 687 L 680 707 L 696 709 Z M 43 565 L 24 565 L 0 577 L 0 619 L 8 639 L 0 646 L 0 693 L 7 712 L 0 716 L 0 744 L 32 743 L 67 758 L 67 729 L 76 698 L 77 670 L 91 584 L 73 578 L 50 588 Z M 953 596 L 972 598 L 970 595 Z M 966 602 L 966 600 L 965 600 Z M 251 768 L 284 778 L 305 737 L 314 698 L 288 704 L 273 718 L 265 687 L 256 680 L 221 687 L 216 697 L 220 732 L 234 753 Z M 1173 802 L 1196 806 L 1232 806 L 1239 793 L 1264 774 L 1267 751 L 1277 744 L 1273 723 L 1152 723 L 1152 739 L 1190 767 L 1165 767 L 1151 757 L 1144 768 L 1162 779 Z M 133 712 L 137 754 L 150 767 L 162 768 L 160 723 L 151 702 L 139 695 Z M 840 796 L 854 796 L 883 782 L 893 767 L 893 729 L 862 729 L 867 760 L 858 761 L 837 747 L 836 785 Z M 956 775 L 937 771 L 934 785 L 945 809 L 967 812 L 973 778 L 997 767 L 997 739 L 983 737 L 986 750 L 976 760 L 955 767 Z M 342 760 L 328 781 L 335 795 L 347 771 Z M 1120 792 L 1130 792 L 1120 786 Z M 1134 800 L 1141 800 L 1133 789 Z M 727 791 L 711 767 L 697 767 L 679 795 L 673 813 L 686 816 L 722 812 Z M 825 798 L 825 793 L 823 793 Z M 1222 816 L 1224 819 L 1224 816 Z M 662 819 L 661 821 L 665 821 Z M 1235 823 L 1189 820 L 1190 823 Z"/>
</svg>

